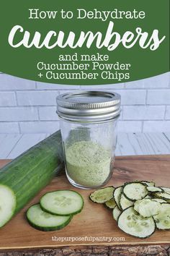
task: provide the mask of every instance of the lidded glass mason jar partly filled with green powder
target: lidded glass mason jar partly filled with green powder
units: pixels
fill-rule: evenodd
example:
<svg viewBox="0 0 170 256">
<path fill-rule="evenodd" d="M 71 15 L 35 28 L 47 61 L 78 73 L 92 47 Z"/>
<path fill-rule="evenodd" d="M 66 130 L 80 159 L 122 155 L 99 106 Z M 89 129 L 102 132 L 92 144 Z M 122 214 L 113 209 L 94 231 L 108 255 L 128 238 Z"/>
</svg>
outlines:
<svg viewBox="0 0 170 256">
<path fill-rule="evenodd" d="M 120 95 L 76 91 L 57 97 L 68 181 L 75 187 L 103 187 L 112 176 Z"/>
</svg>

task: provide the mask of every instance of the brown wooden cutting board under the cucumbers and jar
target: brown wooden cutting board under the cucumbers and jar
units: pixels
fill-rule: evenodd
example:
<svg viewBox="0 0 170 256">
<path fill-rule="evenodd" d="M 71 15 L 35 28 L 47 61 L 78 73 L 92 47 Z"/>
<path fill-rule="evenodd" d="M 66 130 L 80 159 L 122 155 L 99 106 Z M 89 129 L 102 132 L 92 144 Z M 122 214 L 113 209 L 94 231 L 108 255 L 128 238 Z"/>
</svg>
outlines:
<svg viewBox="0 0 170 256">
<path fill-rule="evenodd" d="M 1 160 L 0 166 L 8 161 Z M 154 180 L 162 186 L 170 185 L 170 155 L 117 157 L 115 171 L 109 184 L 120 186 L 132 180 Z M 84 197 L 84 210 L 73 217 L 71 223 L 60 231 L 42 232 L 33 229 L 25 220 L 24 212 L 48 191 L 55 189 L 75 189 Z M 12 221 L 0 230 L 0 249 L 49 248 L 70 245 L 132 245 L 170 244 L 170 231 L 156 231 L 148 239 L 137 239 L 117 228 L 112 211 L 89 200 L 90 190 L 76 189 L 68 183 L 66 176 L 58 176 L 45 187 Z M 70 241 L 68 239 L 70 238 Z M 107 241 L 107 237 L 113 241 Z M 55 238 L 55 241 L 53 241 Z M 63 239 L 63 242 L 56 240 Z M 67 241 L 66 241 L 67 239 Z M 75 241 L 71 241 L 75 239 Z M 94 242 L 92 241 L 94 239 Z M 101 241 L 99 241 L 99 239 Z M 105 239 L 105 241 L 103 240 Z"/>
</svg>

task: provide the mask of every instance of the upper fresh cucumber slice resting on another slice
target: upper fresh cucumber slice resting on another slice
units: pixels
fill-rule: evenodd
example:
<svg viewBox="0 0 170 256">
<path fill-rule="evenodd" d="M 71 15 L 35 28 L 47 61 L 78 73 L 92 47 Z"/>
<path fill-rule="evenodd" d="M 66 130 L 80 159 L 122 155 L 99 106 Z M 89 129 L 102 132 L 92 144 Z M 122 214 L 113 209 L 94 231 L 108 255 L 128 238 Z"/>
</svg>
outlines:
<svg viewBox="0 0 170 256">
<path fill-rule="evenodd" d="M 42 210 L 58 216 L 80 213 L 84 207 L 83 197 L 73 190 L 48 192 L 40 199 Z"/>
</svg>

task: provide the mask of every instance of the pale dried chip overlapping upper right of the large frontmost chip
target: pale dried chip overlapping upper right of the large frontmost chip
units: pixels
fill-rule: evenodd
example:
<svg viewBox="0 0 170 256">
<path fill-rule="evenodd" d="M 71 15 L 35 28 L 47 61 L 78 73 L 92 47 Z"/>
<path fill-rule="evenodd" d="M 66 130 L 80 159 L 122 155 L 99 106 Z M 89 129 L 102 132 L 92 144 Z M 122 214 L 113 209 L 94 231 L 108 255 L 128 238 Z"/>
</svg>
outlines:
<svg viewBox="0 0 170 256">
<path fill-rule="evenodd" d="M 161 203 L 151 199 L 138 200 L 134 204 L 134 209 L 143 217 L 152 217 L 161 210 Z"/>
</svg>

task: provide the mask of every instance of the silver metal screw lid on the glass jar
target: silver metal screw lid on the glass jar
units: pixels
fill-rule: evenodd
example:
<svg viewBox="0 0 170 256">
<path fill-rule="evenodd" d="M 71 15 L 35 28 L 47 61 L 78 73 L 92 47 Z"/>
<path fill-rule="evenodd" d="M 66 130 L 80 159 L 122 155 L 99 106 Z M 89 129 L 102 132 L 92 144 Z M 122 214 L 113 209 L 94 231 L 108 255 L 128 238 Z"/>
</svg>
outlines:
<svg viewBox="0 0 170 256">
<path fill-rule="evenodd" d="M 57 114 L 61 119 L 77 122 L 107 121 L 120 116 L 118 93 L 85 90 L 63 93 L 57 97 Z"/>
</svg>

